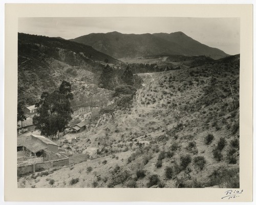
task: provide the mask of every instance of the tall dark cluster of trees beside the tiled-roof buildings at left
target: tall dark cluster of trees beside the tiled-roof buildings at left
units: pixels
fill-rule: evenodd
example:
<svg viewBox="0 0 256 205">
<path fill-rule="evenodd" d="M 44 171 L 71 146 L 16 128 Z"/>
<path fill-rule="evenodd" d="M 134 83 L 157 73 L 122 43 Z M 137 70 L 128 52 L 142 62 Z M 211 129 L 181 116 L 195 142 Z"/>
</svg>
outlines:
<svg viewBox="0 0 256 205">
<path fill-rule="evenodd" d="M 58 90 L 51 93 L 43 92 L 40 101 L 36 103 L 39 115 L 33 117 L 35 129 L 52 139 L 58 134 L 59 138 L 59 134 L 65 133 L 72 119 L 73 111 L 70 104 L 72 99 L 71 84 L 67 81 L 62 81 Z"/>
</svg>

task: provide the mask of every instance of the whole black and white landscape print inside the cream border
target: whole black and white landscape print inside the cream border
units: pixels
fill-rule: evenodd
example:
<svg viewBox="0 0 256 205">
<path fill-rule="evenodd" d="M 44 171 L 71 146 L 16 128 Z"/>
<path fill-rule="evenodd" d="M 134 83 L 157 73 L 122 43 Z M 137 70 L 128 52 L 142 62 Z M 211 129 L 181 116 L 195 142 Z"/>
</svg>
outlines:
<svg viewBox="0 0 256 205">
<path fill-rule="evenodd" d="M 240 18 L 20 17 L 18 188 L 240 188 Z"/>
</svg>

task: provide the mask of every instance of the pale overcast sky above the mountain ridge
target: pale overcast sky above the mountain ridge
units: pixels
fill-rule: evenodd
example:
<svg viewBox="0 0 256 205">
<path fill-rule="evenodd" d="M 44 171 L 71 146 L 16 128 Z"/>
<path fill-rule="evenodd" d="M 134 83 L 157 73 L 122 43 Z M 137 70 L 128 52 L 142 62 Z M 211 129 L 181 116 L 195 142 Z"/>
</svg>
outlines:
<svg viewBox="0 0 256 205">
<path fill-rule="evenodd" d="M 234 55 L 240 53 L 239 18 L 187 17 L 62 17 L 19 18 L 18 32 L 72 39 L 90 33 L 173 33 L 187 36 Z"/>
</svg>

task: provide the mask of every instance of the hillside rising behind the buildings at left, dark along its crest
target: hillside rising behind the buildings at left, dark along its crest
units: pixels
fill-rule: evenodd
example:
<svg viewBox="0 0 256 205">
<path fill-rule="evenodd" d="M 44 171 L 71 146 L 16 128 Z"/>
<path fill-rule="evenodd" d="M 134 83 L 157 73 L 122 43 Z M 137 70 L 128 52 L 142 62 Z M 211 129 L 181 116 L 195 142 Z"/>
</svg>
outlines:
<svg viewBox="0 0 256 205">
<path fill-rule="evenodd" d="M 62 80 L 72 84 L 75 99 L 109 95 L 110 91 L 98 88 L 98 78 L 106 62 L 121 63 L 91 46 L 19 33 L 18 101 L 33 105 L 43 91 L 53 91 Z"/>
</svg>

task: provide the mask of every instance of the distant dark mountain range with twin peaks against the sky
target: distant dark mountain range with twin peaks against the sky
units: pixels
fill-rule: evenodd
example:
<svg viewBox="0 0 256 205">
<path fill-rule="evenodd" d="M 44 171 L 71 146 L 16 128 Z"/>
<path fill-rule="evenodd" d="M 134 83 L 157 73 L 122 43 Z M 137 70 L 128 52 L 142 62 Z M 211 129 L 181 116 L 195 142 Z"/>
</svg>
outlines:
<svg viewBox="0 0 256 205">
<path fill-rule="evenodd" d="M 149 55 L 228 56 L 222 50 L 211 48 L 182 32 L 171 34 L 121 34 L 119 32 L 92 33 L 71 41 L 91 45 L 96 50 L 115 58 L 134 58 Z"/>
</svg>

